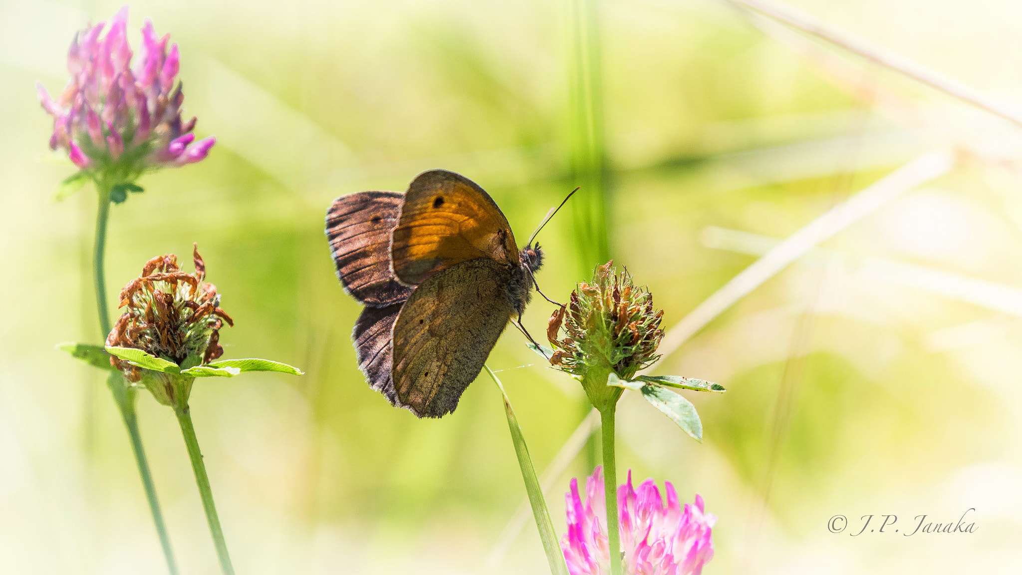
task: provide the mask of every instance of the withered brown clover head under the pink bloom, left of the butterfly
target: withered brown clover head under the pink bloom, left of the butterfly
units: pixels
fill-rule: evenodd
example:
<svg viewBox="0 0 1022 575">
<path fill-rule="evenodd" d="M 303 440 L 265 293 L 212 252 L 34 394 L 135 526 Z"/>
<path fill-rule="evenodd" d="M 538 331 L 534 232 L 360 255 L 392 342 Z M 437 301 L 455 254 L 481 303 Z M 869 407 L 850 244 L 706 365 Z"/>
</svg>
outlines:
<svg viewBox="0 0 1022 575">
<path fill-rule="evenodd" d="M 106 338 L 107 347 L 131 348 L 173 361 L 179 366 L 205 365 L 224 353 L 220 328 L 231 319 L 220 307 L 213 283 L 204 281 L 205 263 L 198 247 L 192 253 L 195 272 L 178 267 L 177 256 L 168 254 L 146 262 L 142 274 L 121 291 L 121 315 Z M 132 362 L 110 356 L 110 363 L 131 382 L 138 382 L 143 369 Z"/>
</svg>

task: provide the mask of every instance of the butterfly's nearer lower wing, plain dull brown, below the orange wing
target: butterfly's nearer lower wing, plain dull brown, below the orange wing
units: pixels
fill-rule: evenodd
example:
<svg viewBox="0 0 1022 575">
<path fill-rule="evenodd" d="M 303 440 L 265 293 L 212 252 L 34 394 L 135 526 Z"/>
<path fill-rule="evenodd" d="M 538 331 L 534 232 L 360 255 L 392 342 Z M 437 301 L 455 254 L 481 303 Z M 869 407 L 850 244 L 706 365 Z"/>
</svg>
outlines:
<svg viewBox="0 0 1022 575">
<path fill-rule="evenodd" d="M 469 260 L 426 279 L 393 326 L 397 400 L 419 417 L 454 411 L 511 318 L 508 266 Z"/>
</svg>

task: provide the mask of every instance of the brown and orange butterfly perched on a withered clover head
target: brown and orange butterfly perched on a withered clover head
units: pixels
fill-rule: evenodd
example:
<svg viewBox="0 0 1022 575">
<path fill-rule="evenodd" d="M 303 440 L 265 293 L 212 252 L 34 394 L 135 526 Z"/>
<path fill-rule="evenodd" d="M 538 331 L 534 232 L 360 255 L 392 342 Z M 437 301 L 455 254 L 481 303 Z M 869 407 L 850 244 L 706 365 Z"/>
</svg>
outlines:
<svg viewBox="0 0 1022 575">
<path fill-rule="evenodd" d="M 455 410 L 543 265 L 539 244 L 518 250 L 489 193 L 447 170 L 404 193 L 338 197 L 326 235 L 337 278 L 365 305 L 352 331 L 359 368 L 418 417 Z"/>
</svg>

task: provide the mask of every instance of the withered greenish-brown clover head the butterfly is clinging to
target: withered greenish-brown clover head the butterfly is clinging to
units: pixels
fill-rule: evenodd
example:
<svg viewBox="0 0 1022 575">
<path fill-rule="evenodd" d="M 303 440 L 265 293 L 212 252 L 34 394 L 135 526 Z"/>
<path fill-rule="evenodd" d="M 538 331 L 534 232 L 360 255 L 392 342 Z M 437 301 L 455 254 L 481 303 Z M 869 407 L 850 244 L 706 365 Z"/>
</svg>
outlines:
<svg viewBox="0 0 1022 575">
<path fill-rule="evenodd" d="M 598 369 L 628 380 L 660 357 L 663 311 L 653 308 L 653 295 L 635 285 L 628 270 L 617 273 L 612 264 L 597 267 L 591 282 L 578 283 L 547 325 L 554 346 L 550 363 L 574 375 Z M 567 337 L 558 339 L 559 331 Z"/>
</svg>

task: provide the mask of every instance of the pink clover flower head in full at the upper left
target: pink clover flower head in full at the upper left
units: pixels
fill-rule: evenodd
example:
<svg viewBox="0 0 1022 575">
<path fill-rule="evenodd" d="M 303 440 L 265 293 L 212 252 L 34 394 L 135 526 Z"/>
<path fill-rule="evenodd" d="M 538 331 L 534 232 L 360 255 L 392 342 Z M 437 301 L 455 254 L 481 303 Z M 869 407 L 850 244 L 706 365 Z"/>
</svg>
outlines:
<svg viewBox="0 0 1022 575">
<path fill-rule="evenodd" d="M 212 136 L 194 141 L 195 118 L 181 120 L 181 54 L 170 35 L 157 37 L 146 18 L 141 54 L 132 65 L 127 31 L 125 5 L 109 26 L 101 21 L 75 36 L 67 52 L 71 80 L 55 99 L 36 84 L 40 103 L 53 117 L 50 147 L 67 151 L 81 170 L 76 176 L 110 185 L 131 184 L 147 170 L 199 162 L 216 143 Z"/>
</svg>

